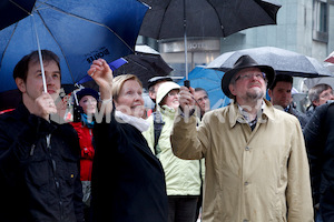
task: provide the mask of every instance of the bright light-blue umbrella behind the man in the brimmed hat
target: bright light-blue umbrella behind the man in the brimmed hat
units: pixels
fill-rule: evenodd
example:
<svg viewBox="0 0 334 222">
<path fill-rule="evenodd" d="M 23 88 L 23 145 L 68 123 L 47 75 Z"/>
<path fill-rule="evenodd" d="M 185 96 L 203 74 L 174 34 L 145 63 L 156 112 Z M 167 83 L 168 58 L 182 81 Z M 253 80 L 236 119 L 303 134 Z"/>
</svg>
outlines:
<svg viewBox="0 0 334 222">
<path fill-rule="evenodd" d="M 229 103 L 229 98 L 226 97 L 220 87 L 224 72 L 213 69 L 206 69 L 204 67 L 196 67 L 189 72 L 189 80 L 191 87 L 203 88 L 207 91 L 212 109 L 225 107 Z M 178 84 L 184 85 L 184 80 L 180 80 Z"/>
</svg>

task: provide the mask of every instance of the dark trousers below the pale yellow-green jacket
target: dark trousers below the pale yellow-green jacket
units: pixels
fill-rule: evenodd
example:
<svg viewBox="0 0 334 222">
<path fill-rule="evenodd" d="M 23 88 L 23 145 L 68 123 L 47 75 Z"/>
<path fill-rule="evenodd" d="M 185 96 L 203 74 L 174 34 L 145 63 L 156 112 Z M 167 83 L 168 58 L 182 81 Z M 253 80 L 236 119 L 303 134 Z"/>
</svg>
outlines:
<svg viewBox="0 0 334 222">
<path fill-rule="evenodd" d="M 168 222 L 194 222 L 197 195 L 168 195 Z"/>
</svg>

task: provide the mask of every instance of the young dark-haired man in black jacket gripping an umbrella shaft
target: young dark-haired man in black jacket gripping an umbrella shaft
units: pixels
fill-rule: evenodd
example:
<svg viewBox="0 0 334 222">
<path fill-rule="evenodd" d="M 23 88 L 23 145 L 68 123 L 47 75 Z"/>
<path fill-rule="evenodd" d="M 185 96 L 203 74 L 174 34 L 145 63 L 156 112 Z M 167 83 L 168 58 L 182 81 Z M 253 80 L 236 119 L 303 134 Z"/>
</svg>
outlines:
<svg viewBox="0 0 334 222">
<path fill-rule="evenodd" d="M 59 58 L 42 50 L 23 57 L 13 78 L 22 103 L 0 115 L 1 222 L 84 221 L 79 141 L 68 124 L 50 121 L 60 91 Z"/>
</svg>

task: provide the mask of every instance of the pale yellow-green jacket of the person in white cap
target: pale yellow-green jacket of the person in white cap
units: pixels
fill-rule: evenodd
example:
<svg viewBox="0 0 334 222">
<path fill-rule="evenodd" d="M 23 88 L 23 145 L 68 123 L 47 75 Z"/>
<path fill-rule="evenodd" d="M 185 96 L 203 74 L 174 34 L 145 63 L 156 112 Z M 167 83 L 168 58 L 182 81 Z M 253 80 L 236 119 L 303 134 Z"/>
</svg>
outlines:
<svg viewBox="0 0 334 222">
<path fill-rule="evenodd" d="M 165 122 L 157 150 L 160 153 L 155 153 L 154 143 L 154 119 L 150 115 L 147 121 L 150 122 L 150 128 L 143 132 L 151 151 L 160 160 L 165 170 L 167 195 L 199 195 L 200 193 L 200 172 L 198 160 L 181 160 L 174 155 L 170 144 L 170 132 L 174 124 L 176 111 L 163 105 L 158 107 Z"/>
</svg>

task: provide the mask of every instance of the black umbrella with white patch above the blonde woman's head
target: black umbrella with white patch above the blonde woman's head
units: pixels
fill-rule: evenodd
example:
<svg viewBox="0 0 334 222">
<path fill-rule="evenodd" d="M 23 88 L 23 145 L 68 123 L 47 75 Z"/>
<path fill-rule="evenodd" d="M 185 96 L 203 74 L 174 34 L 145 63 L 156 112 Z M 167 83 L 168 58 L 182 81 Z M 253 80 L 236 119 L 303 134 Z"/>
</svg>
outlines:
<svg viewBox="0 0 334 222">
<path fill-rule="evenodd" d="M 136 74 L 147 88 L 147 81 L 157 75 L 167 75 L 173 69 L 160 57 L 159 52 L 148 46 L 136 46 L 135 54 L 125 57 L 128 63 L 115 71 L 115 77 L 124 73 Z"/>
</svg>

